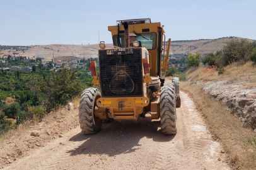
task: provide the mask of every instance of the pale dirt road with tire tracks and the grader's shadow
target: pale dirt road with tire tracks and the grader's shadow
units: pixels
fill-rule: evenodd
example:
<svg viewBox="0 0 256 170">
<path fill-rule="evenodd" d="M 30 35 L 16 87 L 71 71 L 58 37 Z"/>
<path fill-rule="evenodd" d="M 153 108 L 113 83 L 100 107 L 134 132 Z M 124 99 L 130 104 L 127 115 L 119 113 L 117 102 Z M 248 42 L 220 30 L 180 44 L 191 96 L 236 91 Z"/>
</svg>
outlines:
<svg viewBox="0 0 256 170">
<path fill-rule="evenodd" d="M 162 135 L 149 117 L 104 123 L 96 135 L 76 127 L 5 169 L 230 169 L 192 100 L 180 93 L 177 135 Z"/>
</svg>

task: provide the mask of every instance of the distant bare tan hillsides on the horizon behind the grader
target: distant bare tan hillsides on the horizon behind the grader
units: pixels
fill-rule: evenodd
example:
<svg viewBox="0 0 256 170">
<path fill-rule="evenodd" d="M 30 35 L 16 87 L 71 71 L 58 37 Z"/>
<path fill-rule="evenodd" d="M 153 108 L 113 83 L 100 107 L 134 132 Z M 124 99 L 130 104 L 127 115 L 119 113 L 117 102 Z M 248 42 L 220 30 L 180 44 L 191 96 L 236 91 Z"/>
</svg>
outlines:
<svg viewBox="0 0 256 170">
<path fill-rule="evenodd" d="M 170 54 L 177 59 L 185 57 L 186 54 L 200 52 L 202 57 L 211 52 L 221 50 L 224 45 L 230 40 L 239 37 L 224 37 L 216 39 L 203 40 L 180 40 L 171 43 Z M 252 42 L 253 40 L 249 40 Z M 111 48 L 111 43 L 106 44 L 106 48 Z M 21 55 L 30 57 L 43 57 L 44 60 L 51 60 L 52 56 L 58 57 L 78 57 L 90 58 L 98 56 L 98 44 L 93 45 L 32 45 L 32 46 L 0 46 L 0 57 L 7 57 L 8 55 Z"/>
</svg>

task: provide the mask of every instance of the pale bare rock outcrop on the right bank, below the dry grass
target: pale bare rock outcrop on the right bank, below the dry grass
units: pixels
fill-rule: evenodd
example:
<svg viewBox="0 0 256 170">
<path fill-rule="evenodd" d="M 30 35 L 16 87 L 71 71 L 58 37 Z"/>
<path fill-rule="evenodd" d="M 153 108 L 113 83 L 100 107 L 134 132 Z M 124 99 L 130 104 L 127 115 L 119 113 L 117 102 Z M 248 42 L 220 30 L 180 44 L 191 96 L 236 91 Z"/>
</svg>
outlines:
<svg viewBox="0 0 256 170">
<path fill-rule="evenodd" d="M 240 118 L 243 127 L 252 127 L 256 132 L 256 87 L 247 89 L 244 82 L 207 82 L 202 90 L 230 108 Z"/>
</svg>

